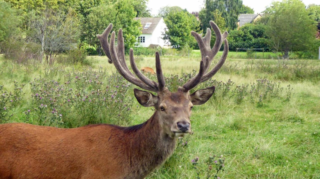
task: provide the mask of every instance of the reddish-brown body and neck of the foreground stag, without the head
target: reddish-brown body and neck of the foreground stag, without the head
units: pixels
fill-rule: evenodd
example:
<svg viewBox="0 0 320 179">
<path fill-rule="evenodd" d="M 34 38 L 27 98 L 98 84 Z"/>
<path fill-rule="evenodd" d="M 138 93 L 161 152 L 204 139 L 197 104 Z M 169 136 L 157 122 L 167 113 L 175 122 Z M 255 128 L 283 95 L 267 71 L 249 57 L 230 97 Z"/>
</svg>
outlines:
<svg viewBox="0 0 320 179">
<path fill-rule="evenodd" d="M 0 178 L 144 178 L 175 148 L 156 116 L 132 127 L 0 125 Z"/>
</svg>

